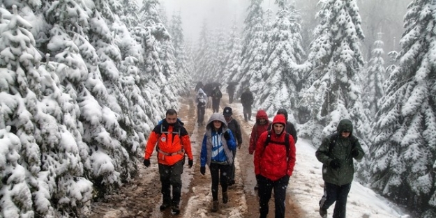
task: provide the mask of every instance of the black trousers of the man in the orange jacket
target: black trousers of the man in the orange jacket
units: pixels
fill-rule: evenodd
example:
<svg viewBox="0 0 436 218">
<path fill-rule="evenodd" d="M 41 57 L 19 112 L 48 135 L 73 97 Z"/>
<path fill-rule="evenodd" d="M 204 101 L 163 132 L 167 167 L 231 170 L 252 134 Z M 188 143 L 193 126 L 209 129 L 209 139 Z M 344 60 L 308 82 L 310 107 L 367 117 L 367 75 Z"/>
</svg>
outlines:
<svg viewBox="0 0 436 218">
<path fill-rule="evenodd" d="M 183 159 L 176 162 L 174 165 L 168 166 L 158 164 L 160 183 L 162 189 L 163 203 L 170 205 L 179 205 L 181 193 L 181 173 L 183 173 Z M 171 186 L 172 186 L 172 199 L 171 199 Z"/>
</svg>

